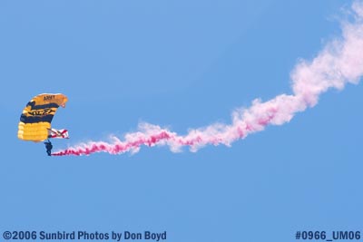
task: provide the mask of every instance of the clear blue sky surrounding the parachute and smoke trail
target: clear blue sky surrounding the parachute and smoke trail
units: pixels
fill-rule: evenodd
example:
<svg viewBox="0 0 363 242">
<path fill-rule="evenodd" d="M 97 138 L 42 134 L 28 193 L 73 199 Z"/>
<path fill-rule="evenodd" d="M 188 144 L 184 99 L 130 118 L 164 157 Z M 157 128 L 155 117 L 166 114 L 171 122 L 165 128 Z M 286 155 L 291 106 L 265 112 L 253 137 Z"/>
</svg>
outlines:
<svg viewBox="0 0 363 242">
<path fill-rule="evenodd" d="M 1 1 L 1 234 L 294 241 L 296 230 L 361 229 L 361 85 L 231 148 L 47 157 L 16 136 L 26 102 L 42 92 L 69 98 L 53 126 L 71 139 L 54 140 L 55 150 L 122 138 L 140 121 L 183 134 L 290 93 L 295 63 L 339 34 L 351 2 L 287 2 Z"/>
</svg>

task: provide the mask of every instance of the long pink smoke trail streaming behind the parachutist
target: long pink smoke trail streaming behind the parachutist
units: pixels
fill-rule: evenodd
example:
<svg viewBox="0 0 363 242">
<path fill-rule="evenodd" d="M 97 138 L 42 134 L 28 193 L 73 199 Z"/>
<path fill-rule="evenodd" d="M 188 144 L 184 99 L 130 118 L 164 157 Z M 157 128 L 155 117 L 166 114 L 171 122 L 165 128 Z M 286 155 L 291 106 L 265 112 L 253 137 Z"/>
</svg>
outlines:
<svg viewBox="0 0 363 242">
<path fill-rule="evenodd" d="M 363 3 L 351 5 L 354 21 L 342 23 L 342 36 L 326 44 L 312 61 L 301 60 L 291 73 L 293 94 L 281 94 L 267 102 L 254 100 L 249 109 L 232 113 L 232 122 L 212 124 L 178 135 L 158 125 L 142 123 L 139 131 L 128 133 L 124 140 L 113 137 L 113 142 L 90 141 L 54 156 L 90 155 L 94 152 L 120 154 L 137 152 L 142 145 L 168 145 L 172 151 L 189 146 L 191 151 L 208 144 L 224 144 L 246 138 L 250 133 L 263 131 L 267 125 L 289 122 L 295 113 L 315 106 L 319 95 L 329 88 L 342 90 L 346 83 L 358 83 L 363 75 Z"/>
</svg>

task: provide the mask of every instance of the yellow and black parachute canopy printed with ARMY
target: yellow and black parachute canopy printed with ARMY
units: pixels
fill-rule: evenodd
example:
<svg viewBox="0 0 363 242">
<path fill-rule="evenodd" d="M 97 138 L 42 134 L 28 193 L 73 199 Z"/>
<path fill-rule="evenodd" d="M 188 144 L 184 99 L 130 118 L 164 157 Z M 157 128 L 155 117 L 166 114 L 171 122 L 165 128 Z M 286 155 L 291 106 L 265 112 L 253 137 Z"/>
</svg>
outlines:
<svg viewBox="0 0 363 242">
<path fill-rule="evenodd" d="M 65 107 L 68 99 L 61 93 L 43 93 L 26 104 L 18 125 L 20 140 L 43 141 L 48 138 L 51 122 L 59 106 Z"/>
</svg>

